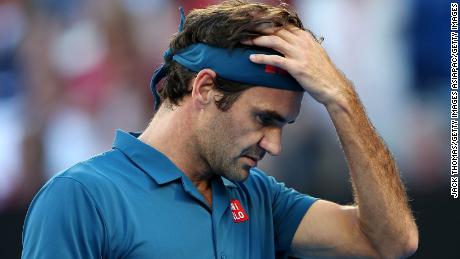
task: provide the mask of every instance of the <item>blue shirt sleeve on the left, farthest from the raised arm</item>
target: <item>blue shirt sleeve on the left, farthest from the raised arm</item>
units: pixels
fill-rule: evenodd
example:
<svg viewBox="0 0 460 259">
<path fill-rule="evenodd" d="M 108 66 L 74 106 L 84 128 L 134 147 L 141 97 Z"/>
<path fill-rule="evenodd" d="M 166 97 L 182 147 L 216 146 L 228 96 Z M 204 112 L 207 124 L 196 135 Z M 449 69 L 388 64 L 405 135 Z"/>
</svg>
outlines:
<svg viewBox="0 0 460 259">
<path fill-rule="evenodd" d="M 85 187 L 73 178 L 55 177 L 29 207 L 22 258 L 103 258 L 104 226 Z"/>
</svg>

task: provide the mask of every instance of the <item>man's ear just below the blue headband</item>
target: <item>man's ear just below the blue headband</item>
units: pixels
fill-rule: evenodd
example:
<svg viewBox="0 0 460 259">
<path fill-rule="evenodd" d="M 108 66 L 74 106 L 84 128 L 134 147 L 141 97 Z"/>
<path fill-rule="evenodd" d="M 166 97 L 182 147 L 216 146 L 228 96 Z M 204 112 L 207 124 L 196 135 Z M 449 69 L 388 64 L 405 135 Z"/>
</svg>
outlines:
<svg viewBox="0 0 460 259">
<path fill-rule="evenodd" d="M 204 109 L 215 100 L 214 79 L 217 74 L 211 69 L 203 69 L 192 83 L 192 101 L 197 109 Z"/>
</svg>

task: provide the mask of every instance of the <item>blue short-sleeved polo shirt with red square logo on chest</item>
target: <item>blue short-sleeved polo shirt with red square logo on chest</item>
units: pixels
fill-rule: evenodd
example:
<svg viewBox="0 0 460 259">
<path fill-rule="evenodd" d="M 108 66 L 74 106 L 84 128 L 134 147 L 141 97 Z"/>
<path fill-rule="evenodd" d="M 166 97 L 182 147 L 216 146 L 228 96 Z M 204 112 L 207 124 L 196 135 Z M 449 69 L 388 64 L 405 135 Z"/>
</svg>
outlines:
<svg viewBox="0 0 460 259">
<path fill-rule="evenodd" d="M 212 180 L 212 207 L 165 155 L 117 131 L 113 149 L 56 175 L 27 213 L 22 257 L 283 258 L 316 200 L 253 168 Z"/>
</svg>

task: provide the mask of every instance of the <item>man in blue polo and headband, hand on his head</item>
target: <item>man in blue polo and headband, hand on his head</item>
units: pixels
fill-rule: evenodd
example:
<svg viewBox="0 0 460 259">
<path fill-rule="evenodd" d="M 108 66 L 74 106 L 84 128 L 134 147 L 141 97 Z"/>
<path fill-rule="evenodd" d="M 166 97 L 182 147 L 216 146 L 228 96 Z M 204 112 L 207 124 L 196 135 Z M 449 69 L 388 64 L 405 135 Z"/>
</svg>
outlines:
<svg viewBox="0 0 460 259">
<path fill-rule="evenodd" d="M 152 80 L 141 134 L 51 179 L 26 217 L 24 258 L 403 258 L 416 224 L 390 152 L 351 83 L 295 13 L 225 2 L 192 11 Z M 166 76 L 157 93 L 157 83 Z M 303 92 L 322 103 L 354 206 L 256 168 L 281 152 Z"/>
</svg>

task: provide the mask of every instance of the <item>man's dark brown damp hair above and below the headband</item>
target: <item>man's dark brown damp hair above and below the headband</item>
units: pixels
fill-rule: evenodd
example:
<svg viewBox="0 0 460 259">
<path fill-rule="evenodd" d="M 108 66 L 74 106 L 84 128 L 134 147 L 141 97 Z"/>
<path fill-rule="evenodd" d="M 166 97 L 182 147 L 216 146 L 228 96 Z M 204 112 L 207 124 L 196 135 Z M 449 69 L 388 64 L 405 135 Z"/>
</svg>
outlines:
<svg viewBox="0 0 460 259">
<path fill-rule="evenodd" d="M 286 4 L 275 7 L 239 0 L 224 1 L 191 11 L 186 17 L 183 30 L 173 36 L 169 46 L 172 54 L 200 42 L 229 49 L 244 47 L 240 41 L 262 35 L 256 28 L 288 25 L 305 29 L 297 13 L 288 9 Z M 183 97 L 190 94 L 189 83 L 196 73 L 171 59 L 166 60 L 165 66 L 168 72 L 159 90 L 161 102 L 166 100 L 170 105 L 179 105 Z M 252 87 L 219 76 L 215 78 L 214 86 L 223 94 L 223 98 L 216 101 L 222 111 L 228 110 L 244 90 Z"/>
</svg>

